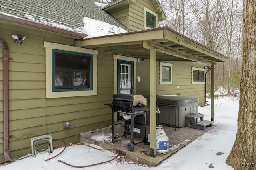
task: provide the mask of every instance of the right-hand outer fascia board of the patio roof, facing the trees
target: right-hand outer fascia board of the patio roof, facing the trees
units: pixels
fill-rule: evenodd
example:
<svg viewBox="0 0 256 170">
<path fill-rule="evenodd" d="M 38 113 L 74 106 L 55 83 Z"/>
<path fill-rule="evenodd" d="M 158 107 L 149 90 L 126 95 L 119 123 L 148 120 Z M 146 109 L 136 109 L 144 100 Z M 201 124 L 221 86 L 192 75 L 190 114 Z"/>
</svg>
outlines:
<svg viewBox="0 0 256 170">
<path fill-rule="evenodd" d="M 196 41 L 192 41 L 186 37 L 182 37 L 181 34 L 175 33 L 168 29 L 164 30 L 164 39 L 168 39 L 169 41 L 172 41 L 174 43 L 183 45 L 183 46 L 193 49 L 195 51 L 199 51 L 200 53 L 203 53 L 203 54 L 213 57 L 215 59 L 218 59 L 218 60 L 221 60 L 221 61 L 224 61 L 227 63 L 229 61 L 228 57 L 226 57 L 218 52 L 215 52 L 212 49 L 208 49 L 208 47 L 204 47 L 203 45 L 197 43 Z"/>
</svg>

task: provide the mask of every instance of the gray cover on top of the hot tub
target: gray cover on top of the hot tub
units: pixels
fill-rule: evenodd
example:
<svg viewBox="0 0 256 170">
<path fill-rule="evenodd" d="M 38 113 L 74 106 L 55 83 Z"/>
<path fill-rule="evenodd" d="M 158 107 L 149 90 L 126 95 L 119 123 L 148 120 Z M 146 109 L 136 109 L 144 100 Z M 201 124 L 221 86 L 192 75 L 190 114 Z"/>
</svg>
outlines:
<svg viewBox="0 0 256 170">
<path fill-rule="evenodd" d="M 157 95 L 157 103 L 159 104 L 171 104 L 171 105 L 191 105 L 199 102 L 199 98 L 191 96 L 167 96 Z"/>
</svg>

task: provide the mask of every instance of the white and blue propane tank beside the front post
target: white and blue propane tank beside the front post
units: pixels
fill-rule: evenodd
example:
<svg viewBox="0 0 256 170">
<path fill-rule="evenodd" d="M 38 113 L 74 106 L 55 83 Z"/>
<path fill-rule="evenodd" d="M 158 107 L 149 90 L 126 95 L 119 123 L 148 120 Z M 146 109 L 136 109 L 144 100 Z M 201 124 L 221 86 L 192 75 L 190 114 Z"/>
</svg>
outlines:
<svg viewBox="0 0 256 170">
<path fill-rule="evenodd" d="M 166 154 L 169 151 L 169 138 L 163 129 L 156 130 L 156 153 Z"/>
</svg>

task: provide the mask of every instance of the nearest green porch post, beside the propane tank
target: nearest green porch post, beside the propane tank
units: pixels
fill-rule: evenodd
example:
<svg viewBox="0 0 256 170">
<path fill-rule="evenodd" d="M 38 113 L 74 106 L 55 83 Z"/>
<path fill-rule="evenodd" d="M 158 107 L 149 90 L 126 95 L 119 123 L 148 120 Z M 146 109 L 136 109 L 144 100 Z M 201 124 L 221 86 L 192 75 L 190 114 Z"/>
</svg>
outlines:
<svg viewBox="0 0 256 170">
<path fill-rule="evenodd" d="M 156 156 L 156 50 L 150 49 L 150 156 Z"/>
</svg>

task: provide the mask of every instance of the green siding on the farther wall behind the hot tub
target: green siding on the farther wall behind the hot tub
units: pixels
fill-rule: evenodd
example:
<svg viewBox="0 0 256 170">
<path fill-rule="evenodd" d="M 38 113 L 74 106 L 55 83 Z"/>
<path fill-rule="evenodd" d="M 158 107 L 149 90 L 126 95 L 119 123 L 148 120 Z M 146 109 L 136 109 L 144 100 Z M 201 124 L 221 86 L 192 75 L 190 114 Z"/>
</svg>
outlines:
<svg viewBox="0 0 256 170">
<path fill-rule="evenodd" d="M 195 96 L 199 98 L 199 106 L 204 106 L 204 84 L 192 84 L 191 66 L 203 68 L 202 65 L 193 63 L 171 62 L 172 85 L 160 85 L 160 65 L 156 64 L 156 94 L 171 94 L 182 96 Z M 140 76 L 140 82 L 137 82 L 137 94 L 149 96 L 149 61 L 137 63 L 137 76 Z M 177 88 L 178 86 L 178 88 Z"/>
</svg>

